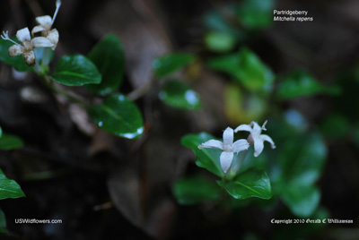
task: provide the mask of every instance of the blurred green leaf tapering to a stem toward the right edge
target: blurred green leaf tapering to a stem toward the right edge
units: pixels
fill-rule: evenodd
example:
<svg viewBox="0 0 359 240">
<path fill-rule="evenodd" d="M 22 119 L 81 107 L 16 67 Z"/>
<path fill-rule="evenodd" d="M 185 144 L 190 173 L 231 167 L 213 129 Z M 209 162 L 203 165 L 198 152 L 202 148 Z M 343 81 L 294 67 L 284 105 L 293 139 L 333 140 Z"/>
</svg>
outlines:
<svg viewBox="0 0 359 240">
<path fill-rule="evenodd" d="M 337 86 L 321 84 L 310 73 L 295 71 L 286 75 L 279 82 L 277 97 L 279 99 L 293 99 L 319 93 L 337 95 L 340 93 L 340 89 Z"/>
</svg>

